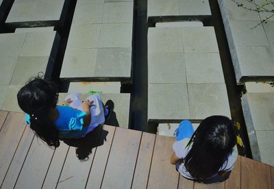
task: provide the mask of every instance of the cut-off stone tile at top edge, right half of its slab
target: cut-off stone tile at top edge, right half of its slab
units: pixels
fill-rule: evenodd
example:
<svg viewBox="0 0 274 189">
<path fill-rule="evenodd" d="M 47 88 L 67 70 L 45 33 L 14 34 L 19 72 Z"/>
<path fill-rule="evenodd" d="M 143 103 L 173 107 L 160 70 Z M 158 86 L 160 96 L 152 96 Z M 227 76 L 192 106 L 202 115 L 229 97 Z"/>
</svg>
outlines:
<svg viewBox="0 0 274 189">
<path fill-rule="evenodd" d="M 179 15 L 211 15 L 209 0 L 179 0 Z"/>
</svg>

